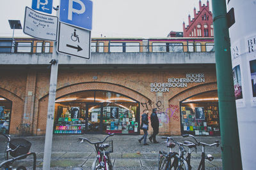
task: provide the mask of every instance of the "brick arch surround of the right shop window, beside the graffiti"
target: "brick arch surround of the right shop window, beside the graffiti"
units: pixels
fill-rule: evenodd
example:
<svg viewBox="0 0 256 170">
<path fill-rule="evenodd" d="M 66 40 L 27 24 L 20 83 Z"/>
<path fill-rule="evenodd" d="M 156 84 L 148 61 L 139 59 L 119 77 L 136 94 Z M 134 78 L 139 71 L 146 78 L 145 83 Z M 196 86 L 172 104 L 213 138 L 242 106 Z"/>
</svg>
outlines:
<svg viewBox="0 0 256 170">
<path fill-rule="evenodd" d="M 197 85 L 195 87 L 191 87 L 186 89 L 179 94 L 176 94 L 172 98 L 169 99 L 169 114 L 173 114 L 170 116 L 170 134 L 171 135 L 180 135 L 180 101 L 187 99 L 191 96 L 195 96 L 196 94 L 200 94 L 203 92 L 209 92 L 212 90 L 217 90 L 217 82 L 204 83 L 202 85 Z M 172 113 L 172 111 L 174 111 Z"/>
</svg>

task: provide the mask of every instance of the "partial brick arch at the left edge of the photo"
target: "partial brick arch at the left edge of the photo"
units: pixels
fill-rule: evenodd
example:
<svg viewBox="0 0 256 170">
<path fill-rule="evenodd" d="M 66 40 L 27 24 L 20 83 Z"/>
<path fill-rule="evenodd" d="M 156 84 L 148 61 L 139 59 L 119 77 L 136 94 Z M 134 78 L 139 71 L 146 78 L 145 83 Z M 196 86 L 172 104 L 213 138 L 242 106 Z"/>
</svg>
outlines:
<svg viewBox="0 0 256 170">
<path fill-rule="evenodd" d="M 10 119 L 10 134 L 15 134 L 16 127 L 22 123 L 23 111 L 24 111 L 24 101 L 12 92 L 0 88 L 0 94 L 4 98 L 12 101 L 12 115 Z"/>
</svg>

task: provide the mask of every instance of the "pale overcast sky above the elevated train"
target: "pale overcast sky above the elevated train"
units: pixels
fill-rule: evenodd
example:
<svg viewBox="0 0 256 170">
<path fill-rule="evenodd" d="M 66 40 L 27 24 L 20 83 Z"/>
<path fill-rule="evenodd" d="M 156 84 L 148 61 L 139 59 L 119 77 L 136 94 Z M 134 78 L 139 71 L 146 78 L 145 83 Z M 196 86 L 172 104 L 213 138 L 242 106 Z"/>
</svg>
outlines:
<svg viewBox="0 0 256 170">
<path fill-rule="evenodd" d="M 59 3 L 53 0 L 54 6 Z M 31 4 L 32 0 L 1 0 L 1 37 L 12 37 L 8 20 L 20 20 L 23 27 L 25 7 Z M 164 38 L 170 31 L 183 31 L 182 23 L 188 25 L 194 7 L 199 10 L 199 0 L 93 0 L 92 37 Z M 26 34 L 15 30 L 14 36 Z"/>
</svg>

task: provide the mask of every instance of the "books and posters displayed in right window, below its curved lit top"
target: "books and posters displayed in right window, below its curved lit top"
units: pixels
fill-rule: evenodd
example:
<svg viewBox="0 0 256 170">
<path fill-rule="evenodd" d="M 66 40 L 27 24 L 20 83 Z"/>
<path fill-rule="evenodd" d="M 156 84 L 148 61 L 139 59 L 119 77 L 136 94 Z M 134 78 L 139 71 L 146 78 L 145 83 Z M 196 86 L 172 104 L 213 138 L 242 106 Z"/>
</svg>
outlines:
<svg viewBox="0 0 256 170">
<path fill-rule="evenodd" d="M 182 103 L 180 111 L 182 134 L 220 135 L 218 103 Z"/>
</svg>

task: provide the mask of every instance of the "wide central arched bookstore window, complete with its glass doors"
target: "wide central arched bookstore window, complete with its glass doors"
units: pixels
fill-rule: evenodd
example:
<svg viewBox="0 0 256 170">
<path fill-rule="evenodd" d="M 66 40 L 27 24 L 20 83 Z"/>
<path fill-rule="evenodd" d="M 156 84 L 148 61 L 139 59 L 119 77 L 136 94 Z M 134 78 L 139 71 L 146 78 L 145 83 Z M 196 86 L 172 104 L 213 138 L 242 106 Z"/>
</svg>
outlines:
<svg viewBox="0 0 256 170">
<path fill-rule="evenodd" d="M 138 134 L 139 104 L 103 90 L 76 92 L 55 101 L 54 134 Z"/>
</svg>

